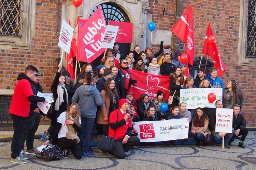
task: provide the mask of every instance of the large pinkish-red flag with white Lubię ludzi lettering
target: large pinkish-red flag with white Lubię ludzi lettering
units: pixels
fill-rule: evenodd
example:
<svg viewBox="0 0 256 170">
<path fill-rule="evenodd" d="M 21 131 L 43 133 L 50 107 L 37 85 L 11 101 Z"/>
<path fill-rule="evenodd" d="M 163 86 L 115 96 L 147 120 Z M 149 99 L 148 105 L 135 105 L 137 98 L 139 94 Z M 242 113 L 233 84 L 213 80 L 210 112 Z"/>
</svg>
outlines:
<svg viewBox="0 0 256 170">
<path fill-rule="evenodd" d="M 106 23 L 100 7 L 86 21 L 86 24 L 83 24 L 81 27 L 88 63 L 94 61 L 101 53 L 105 51 L 105 48 L 101 48 L 105 28 Z"/>
</svg>

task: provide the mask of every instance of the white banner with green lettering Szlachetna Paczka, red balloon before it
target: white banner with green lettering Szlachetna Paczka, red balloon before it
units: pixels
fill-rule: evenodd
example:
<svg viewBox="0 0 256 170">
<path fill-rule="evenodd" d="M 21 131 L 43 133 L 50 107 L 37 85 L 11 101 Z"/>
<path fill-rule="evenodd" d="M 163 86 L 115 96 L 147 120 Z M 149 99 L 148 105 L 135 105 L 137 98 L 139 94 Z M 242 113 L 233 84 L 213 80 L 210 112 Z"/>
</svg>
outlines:
<svg viewBox="0 0 256 170">
<path fill-rule="evenodd" d="M 215 108 L 215 102 L 217 100 L 222 101 L 222 88 L 187 88 L 180 90 L 180 103 L 187 104 L 187 109 L 193 109 L 197 107 L 209 107 Z M 208 95 L 214 93 L 216 100 L 211 104 L 208 101 Z"/>
</svg>

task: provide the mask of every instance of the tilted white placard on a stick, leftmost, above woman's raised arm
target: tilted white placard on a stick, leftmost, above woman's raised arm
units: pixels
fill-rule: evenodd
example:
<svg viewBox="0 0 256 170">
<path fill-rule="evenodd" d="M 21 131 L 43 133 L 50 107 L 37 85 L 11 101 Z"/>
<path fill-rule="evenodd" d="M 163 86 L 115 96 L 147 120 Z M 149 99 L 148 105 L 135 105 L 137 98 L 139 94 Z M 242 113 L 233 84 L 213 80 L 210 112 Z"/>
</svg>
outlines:
<svg viewBox="0 0 256 170">
<path fill-rule="evenodd" d="M 65 20 L 62 20 L 58 46 L 68 54 L 70 52 L 73 32 L 74 29 Z"/>
</svg>

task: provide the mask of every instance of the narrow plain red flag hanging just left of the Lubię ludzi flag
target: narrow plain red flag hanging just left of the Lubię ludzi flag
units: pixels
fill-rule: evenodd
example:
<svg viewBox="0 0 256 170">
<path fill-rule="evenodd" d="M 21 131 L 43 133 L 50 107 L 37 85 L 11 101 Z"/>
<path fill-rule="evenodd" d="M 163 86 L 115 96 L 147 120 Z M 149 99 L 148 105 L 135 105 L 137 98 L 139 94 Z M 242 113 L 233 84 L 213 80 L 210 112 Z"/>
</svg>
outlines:
<svg viewBox="0 0 256 170">
<path fill-rule="evenodd" d="M 77 54 L 76 54 L 76 61 L 79 62 L 87 62 L 86 52 L 85 52 L 85 44 L 83 40 L 83 34 L 81 31 L 80 24 L 78 25 L 77 31 Z"/>
</svg>

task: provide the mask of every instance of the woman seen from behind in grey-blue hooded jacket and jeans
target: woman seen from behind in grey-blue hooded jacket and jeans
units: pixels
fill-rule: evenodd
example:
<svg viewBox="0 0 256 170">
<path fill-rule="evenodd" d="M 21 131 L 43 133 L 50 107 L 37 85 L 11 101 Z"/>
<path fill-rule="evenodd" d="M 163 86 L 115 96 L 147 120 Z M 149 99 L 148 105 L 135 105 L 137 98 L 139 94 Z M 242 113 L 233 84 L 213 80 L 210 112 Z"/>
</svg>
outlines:
<svg viewBox="0 0 256 170">
<path fill-rule="evenodd" d="M 97 106 L 102 105 L 99 90 L 97 90 L 94 85 L 91 85 L 93 79 L 93 75 L 90 72 L 87 72 L 85 74 L 84 85 L 80 86 L 72 97 L 72 102 L 78 103 L 81 111 L 82 132 L 79 133 L 79 138 L 83 156 L 93 155 L 88 149 L 90 147 L 91 133 L 96 117 Z"/>
</svg>

